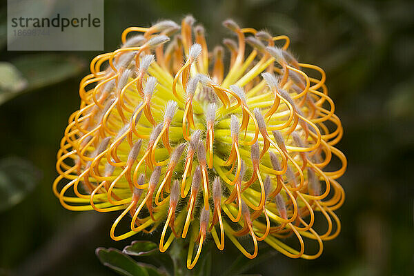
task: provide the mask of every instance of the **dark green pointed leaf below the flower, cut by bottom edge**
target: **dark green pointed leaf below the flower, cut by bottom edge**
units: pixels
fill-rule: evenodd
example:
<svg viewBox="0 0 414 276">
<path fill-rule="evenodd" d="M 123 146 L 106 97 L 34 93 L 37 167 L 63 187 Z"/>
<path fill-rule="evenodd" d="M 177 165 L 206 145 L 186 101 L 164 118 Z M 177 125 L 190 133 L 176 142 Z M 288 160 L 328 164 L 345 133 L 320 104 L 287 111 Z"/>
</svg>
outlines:
<svg viewBox="0 0 414 276">
<path fill-rule="evenodd" d="M 144 266 L 140 266 L 128 255 L 124 255 L 121 251 L 115 248 L 97 248 L 95 251 L 99 261 L 104 266 L 108 266 L 115 272 L 124 276 L 151 276 L 155 274 L 148 273 Z"/>
</svg>

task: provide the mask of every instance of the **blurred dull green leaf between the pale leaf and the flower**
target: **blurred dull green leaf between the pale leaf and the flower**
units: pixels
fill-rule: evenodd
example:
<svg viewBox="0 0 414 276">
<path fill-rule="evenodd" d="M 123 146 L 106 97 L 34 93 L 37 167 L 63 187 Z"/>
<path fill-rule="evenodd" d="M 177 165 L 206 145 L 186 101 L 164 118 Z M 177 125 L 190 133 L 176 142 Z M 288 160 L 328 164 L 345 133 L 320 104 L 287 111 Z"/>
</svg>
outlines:
<svg viewBox="0 0 414 276">
<path fill-rule="evenodd" d="M 59 83 L 79 74 L 84 67 L 75 57 L 57 54 L 24 55 L 12 63 L 28 80 L 28 90 Z"/>
</svg>

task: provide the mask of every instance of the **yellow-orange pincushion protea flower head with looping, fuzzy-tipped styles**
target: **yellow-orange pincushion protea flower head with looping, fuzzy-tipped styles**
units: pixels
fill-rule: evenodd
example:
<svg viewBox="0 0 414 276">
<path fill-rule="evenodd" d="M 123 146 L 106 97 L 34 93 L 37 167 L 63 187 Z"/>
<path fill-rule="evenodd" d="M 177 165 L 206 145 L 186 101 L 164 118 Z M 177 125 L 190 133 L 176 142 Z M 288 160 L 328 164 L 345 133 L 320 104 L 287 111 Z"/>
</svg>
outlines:
<svg viewBox="0 0 414 276">
<path fill-rule="evenodd" d="M 288 257 L 319 257 L 340 231 L 336 179 L 346 168 L 324 71 L 299 63 L 288 37 L 231 20 L 224 26 L 237 42 L 224 40 L 226 67 L 224 48 L 208 52 L 193 23 L 128 28 L 121 48 L 92 60 L 61 140 L 55 195 L 69 210 L 123 210 L 115 240 L 159 227 L 164 252 L 188 239 L 188 268 L 206 239 L 223 250 L 225 235 L 248 258 L 259 241 Z M 341 168 L 326 171 L 332 159 Z M 313 228 L 318 220 L 322 229 Z M 127 233 L 118 233 L 121 221 Z M 245 235 L 250 250 L 239 242 Z M 306 250 L 312 240 L 315 252 Z"/>
</svg>

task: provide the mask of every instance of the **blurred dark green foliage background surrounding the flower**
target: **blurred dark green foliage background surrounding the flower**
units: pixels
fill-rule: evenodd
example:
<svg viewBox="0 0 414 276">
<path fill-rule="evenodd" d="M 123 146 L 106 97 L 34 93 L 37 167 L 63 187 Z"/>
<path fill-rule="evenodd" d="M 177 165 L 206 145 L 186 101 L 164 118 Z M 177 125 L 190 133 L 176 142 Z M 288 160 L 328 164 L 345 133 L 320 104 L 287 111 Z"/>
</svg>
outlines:
<svg viewBox="0 0 414 276">
<path fill-rule="evenodd" d="M 204 24 L 210 46 L 230 35 L 221 27 L 228 17 L 287 34 L 300 61 L 326 71 L 344 125 L 342 233 L 315 261 L 265 253 L 262 262 L 242 259 L 246 273 L 413 275 L 414 2 L 105 0 L 105 50 L 119 46 L 124 28 L 186 14 Z M 6 1 L 0 19 L 0 75 L 13 75 L 10 63 L 23 75 L 0 82 L 0 275 L 115 275 L 95 248 L 133 240 L 110 240 L 117 214 L 72 213 L 51 190 L 59 141 L 79 107 L 79 81 L 99 52 L 8 52 Z M 239 257 L 230 242 L 212 253 L 211 275 Z"/>
</svg>

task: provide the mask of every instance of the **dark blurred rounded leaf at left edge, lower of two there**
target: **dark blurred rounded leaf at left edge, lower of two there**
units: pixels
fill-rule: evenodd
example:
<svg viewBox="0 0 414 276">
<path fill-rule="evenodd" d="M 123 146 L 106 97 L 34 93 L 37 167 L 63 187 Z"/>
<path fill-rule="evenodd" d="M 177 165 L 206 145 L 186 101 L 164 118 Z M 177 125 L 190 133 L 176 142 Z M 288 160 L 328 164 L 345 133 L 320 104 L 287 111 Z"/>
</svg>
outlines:
<svg viewBox="0 0 414 276">
<path fill-rule="evenodd" d="M 0 160 L 0 211 L 18 204 L 39 182 L 41 173 L 17 157 Z"/>
</svg>

